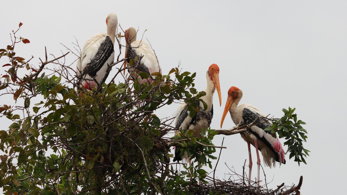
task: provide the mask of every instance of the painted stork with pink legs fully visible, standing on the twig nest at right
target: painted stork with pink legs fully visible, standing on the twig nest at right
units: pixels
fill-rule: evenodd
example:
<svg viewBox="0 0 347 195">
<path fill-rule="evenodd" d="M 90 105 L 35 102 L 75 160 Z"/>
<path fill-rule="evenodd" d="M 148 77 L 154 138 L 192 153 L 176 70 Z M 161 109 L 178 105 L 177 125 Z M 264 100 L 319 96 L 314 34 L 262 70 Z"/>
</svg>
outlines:
<svg viewBox="0 0 347 195">
<path fill-rule="evenodd" d="M 237 124 L 252 124 L 258 117 L 266 117 L 263 112 L 261 112 L 258 108 L 254 107 L 251 104 L 241 104 L 239 106 L 238 103 L 242 98 L 242 91 L 237 87 L 230 87 L 228 91 L 228 99 L 225 105 L 222 121 L 220 123 L 220 127 L 223 125 L 223 121 L 227 112 L 229 110 L 232 121 Z M 264 159 L 265 165 L 275 166 L 276 161 L 283 164 L 286 164 L 286 160 L 284 157 L 284 150 L 282 148 L 282 144 L 279 141 L 278 137 L 274 138 L 271 135 L 271 131 L 264 131 L 266 127 L 270 127 L 272 124 L 270 121 L 259 118 L 249 131 L 241 133 L 241 137 L 248 144 L 248 154 L 249 154 L 249 176 L 248 182 L 250 183 L 251 172 L 252 172 L 252 157 L 251 157 L 251 146 L 252 144 L 257 150 L 257 166 L 258 166 L 258 175 L 257 175 L 257 184 L 259 186 L 259 171 L 260 171 L 260 158 L 259 152 L 261 151 Z"/>
</svg>

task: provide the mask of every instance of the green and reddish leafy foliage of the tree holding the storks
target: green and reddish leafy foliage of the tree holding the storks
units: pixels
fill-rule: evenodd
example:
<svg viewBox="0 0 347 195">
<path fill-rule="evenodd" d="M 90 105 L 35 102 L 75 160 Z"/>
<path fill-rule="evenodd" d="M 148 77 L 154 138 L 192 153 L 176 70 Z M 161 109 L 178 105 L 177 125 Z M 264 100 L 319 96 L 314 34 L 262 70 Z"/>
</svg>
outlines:
<svg viewBox="0 0 347 195">
<path fill-rule="evenodd" d="M 73 69 L 59 61 L 66 54 L 50 61 L 46 54 L 38 68 L 30 64 L 32 58 L 18 57 L 15 45 L 29 40 L 18 39 L 17 31 L 12 44 L 0 50 L 0 58 L 9 59 L 3 65 L 9 69 L 1 75 L 1 95 L 11 94 L 17 101 L 0 107 L 2 120 L 12 122 L 0 130 L 0 150 L 5 153 L 0 186 L 7 194 L 192 194 L 198 180 L 207 182 L 203 167 L 212 168 L 211 160 L 217 159 L 212 139 L 219 132 L 209 129 L 202 139 L 183 132 L 169 139 L 165 136 L 176 130 L 173 118 L 154 114 L 181 101 L 194 115 L 196 102 L 205 95 L 194 88 L 195 73 L 173 68 L 167 75 L 155 75 L 152 84 L 140 85 L 130 77 L 116 83 L 123 70 L 117 67 L 124 61 L 117 59 L 111 82 L 87 91 L 76 86 Z M 49 63 L 54 68 L 46 68 Z M 288 139 L 290 158 L 305 163 L 303 155 L 309 151 L 302 141 L 307 132 L 294 110 L 270 119 L 271 130 Z M 188 171 L 178 172 L 170 163 L 173 145 L 183 147 L 200 165 L 184 165 Z"/>
</svg>

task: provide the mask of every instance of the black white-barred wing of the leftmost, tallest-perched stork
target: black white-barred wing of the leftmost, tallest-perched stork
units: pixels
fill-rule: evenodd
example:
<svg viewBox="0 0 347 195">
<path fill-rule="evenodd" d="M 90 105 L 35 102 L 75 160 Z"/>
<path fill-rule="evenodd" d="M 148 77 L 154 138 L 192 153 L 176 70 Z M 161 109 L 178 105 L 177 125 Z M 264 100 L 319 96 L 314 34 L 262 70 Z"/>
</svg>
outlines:
<svg viewBox="0 0 347 195">
<path fill-rule="evenodd" d="M 83 75 L 88 74 L 92 78 L 95 77 L 96 73 L 98 73 L 104 63 L 110 58 L 113 51 L 113 42 L 109 36 L 106 36 L 105 41 L 101 43 L 95 57 L 91 59 L 84 69 Z"/>
</svg>

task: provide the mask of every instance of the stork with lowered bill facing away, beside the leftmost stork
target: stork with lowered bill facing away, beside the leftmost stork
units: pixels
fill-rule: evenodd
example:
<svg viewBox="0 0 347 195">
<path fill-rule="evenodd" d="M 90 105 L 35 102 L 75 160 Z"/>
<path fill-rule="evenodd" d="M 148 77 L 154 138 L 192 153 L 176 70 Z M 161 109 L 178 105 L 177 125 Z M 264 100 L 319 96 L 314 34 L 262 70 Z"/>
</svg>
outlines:
<svg viewBox="0 0 347 195">
<path fill-rule="evenodd" d="M 139 81 L 139 83 L 151 82 L 154 79 L 154 76 L 151 76 L 152 73 L 160 73 L 161 68 L 158 62 L 158 59 L 155 56 L 152 48 L 145 43 L 144 41 L 136 41 L 136 30 L 133 27 L 130 27 L 125 31 L 125 40 L 126 40 L 126 51 L 125 58 L 127 60 L 124 62 L 124 68 L 127 65 L 129 73 L 132 75 L 133 79 L 140 77 L 138 72 L 145 72 L 148 74 L 149 78 Z M 134 68 L 131 68 L 129 65 L 130 59 L 136 59 L 134 61 L 134 66 L 136 66 L 137 71 Z M 124 70 L 125 73 L 125 70 Z"/>
</svg>

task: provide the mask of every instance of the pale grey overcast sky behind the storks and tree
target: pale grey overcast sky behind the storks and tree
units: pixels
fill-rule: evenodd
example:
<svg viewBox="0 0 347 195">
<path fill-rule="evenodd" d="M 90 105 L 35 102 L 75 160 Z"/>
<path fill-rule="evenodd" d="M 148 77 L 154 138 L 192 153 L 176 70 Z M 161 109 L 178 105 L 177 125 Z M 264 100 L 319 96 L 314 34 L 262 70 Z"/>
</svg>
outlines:
<svg viewBox="0 0 347 195">
<path fill-rule="evenodd" d="M 66 52 L 60 43 L 72 48 L 76 37 L 83 47 L 93 34 L 106 32 L 105 18 L 115 12 L 123 29 L 135 27 L 140 33 L 147 29 L 144 37 L 152 44 L 163 74 L 181 62 L 184 71 L 197 73 L 196 88 L 202 91 L 208 67 L 212 63 L 220 67 L 222 107 L 215 94 L 211 128 L 219 129 L 230 86 L 243 91 L 240 103 L 253 104 L 265 114 L 281 117 L 282 108 L 296 108 L 298 118 L 307 123 L 305 148 L 311 153 L 307 165 L 300 167 L 289 155 L 281 167 L 263 166 L 266 179 L 273 178 L 270 187 L 297 184 L 302 175 L 302 194 L 341 194 L 347 160 L 346 10 L 347 1 L 319 0 L 4 1 L 0 48 L 10 44 L 10 32 L 22 22 L 18 35 L 31 43 L 18 45 L 17 53 L 26 59 L 34 56 L 32 64 L 38 66 L 45 46 L 48 53 L 59 56 Z M 70 55 L 67 63 L 74 59 Z M 1 66 L 5 63 L 0 60 Z M 0 98 L 1 104 L 14 104 Z M 173 108 L 176 105 L 157 114 L 171 116 Z M 3 124 L 7 119 L 0 120 Z M 233 126 L 228 114 L 223 128 Z M 220 145 L 222 138 L 216 136 L 213 143 Z M 223 174 L 230 172 L 225 163 L 242 174 L 245 159 L 248 164 L 246 142 L 240 135 L 226 136 L 224 146 L 216 175 L 228 178 Z M 252 154 L 255 164 L 254 148 Z M 252 175 L 256 176 L 256 166 Z"/>
</svg>

